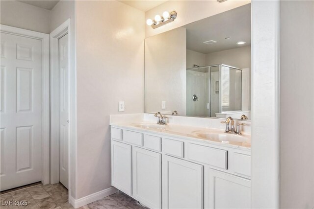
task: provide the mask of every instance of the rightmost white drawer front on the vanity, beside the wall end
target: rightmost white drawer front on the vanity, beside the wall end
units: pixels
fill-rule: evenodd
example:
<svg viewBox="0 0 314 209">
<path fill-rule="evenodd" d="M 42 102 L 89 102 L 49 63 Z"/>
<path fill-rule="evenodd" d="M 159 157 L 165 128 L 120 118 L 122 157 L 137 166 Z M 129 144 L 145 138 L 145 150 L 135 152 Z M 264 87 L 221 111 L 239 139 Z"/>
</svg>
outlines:
<svg viewBox="0 0 314 209">
<path fill-rule="evenodd" d="M 235 173 L 251 176 L 251 156 L 241 153 L 234 153 Z"/>
</svg>

